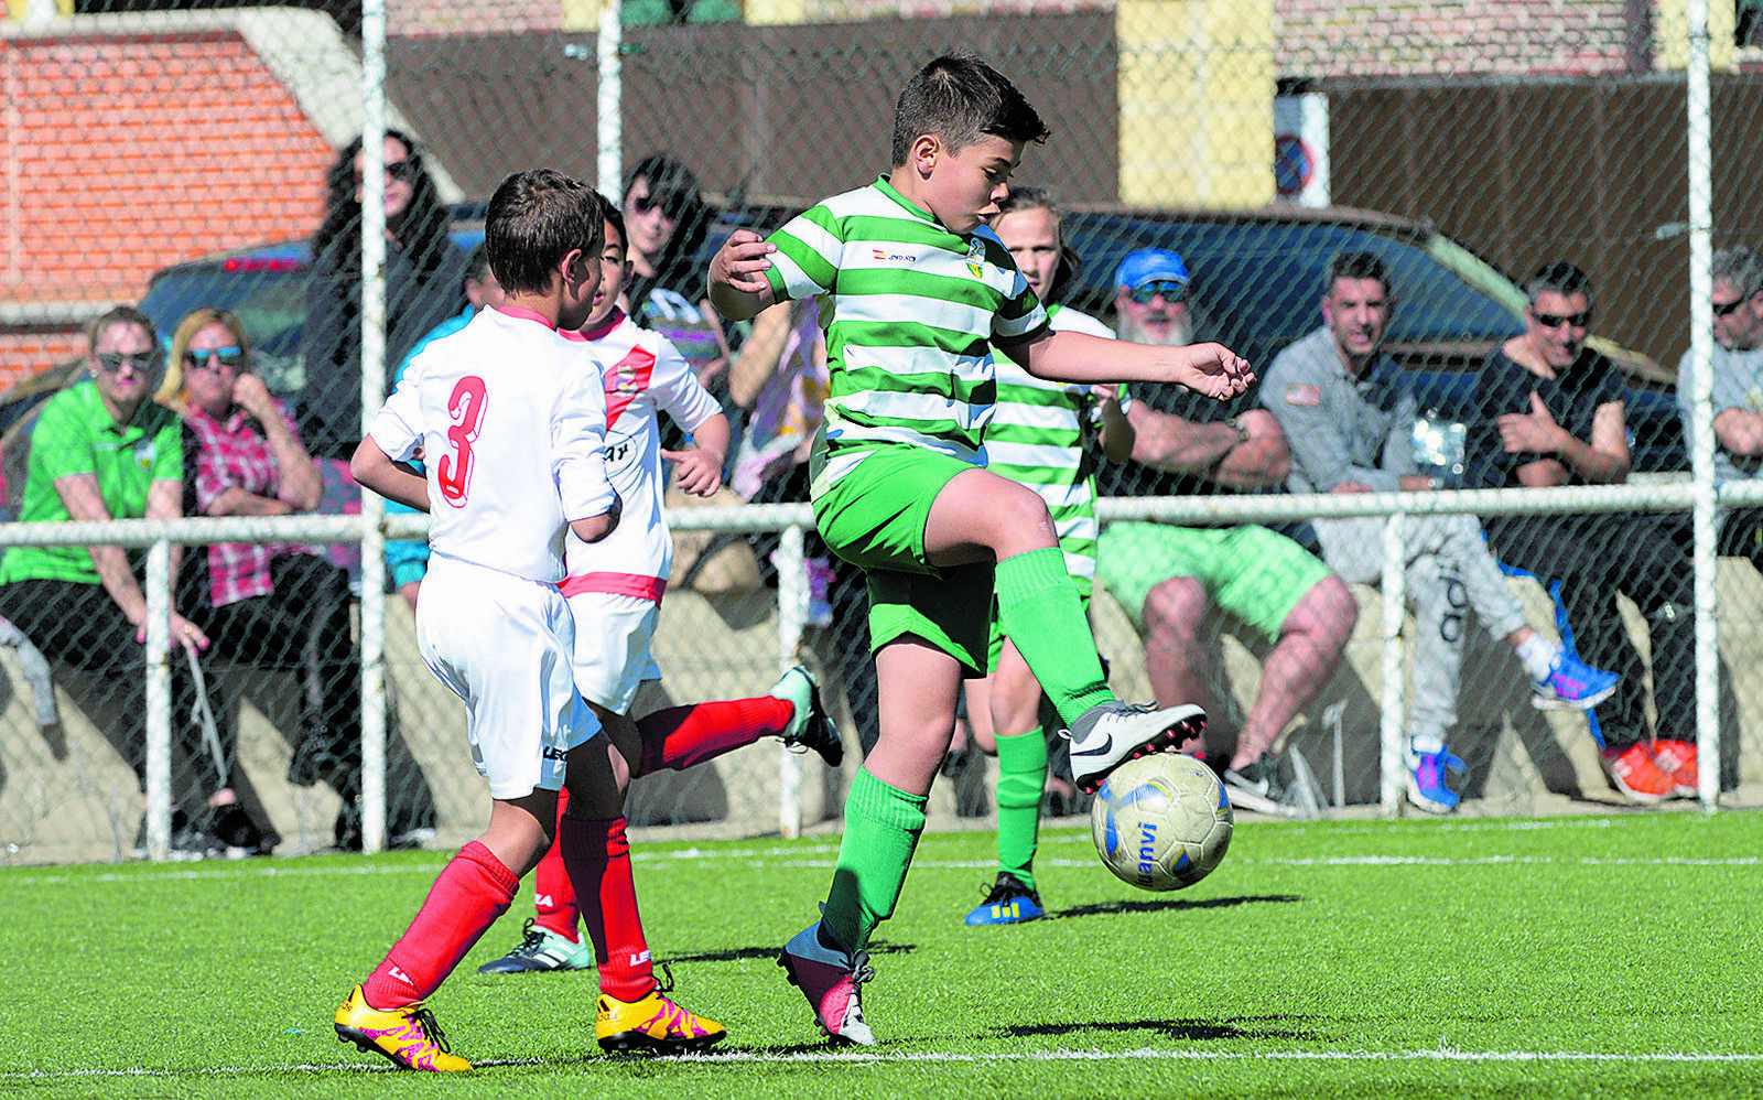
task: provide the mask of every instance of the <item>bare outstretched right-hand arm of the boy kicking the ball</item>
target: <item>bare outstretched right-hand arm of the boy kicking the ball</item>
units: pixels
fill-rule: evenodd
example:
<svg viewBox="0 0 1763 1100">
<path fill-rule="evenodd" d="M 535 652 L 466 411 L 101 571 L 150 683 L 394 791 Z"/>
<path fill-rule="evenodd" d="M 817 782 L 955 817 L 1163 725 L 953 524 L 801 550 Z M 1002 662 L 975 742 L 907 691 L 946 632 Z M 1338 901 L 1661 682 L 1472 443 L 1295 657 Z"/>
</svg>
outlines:
<svg viewBox="0 0 1763 1100">
<path fill-rule="evenodd" d="M 1216 400 L 1255 381 L 1248 360 L 1224 344 L 1157 347 L 1044 330 L 1035 340 L 1000 346 L 1023 370 L 1056 383 L 1178 383 Z"/>
</svg>

